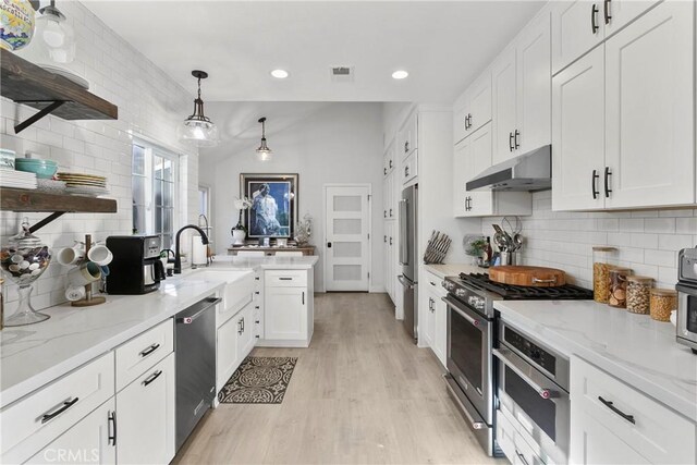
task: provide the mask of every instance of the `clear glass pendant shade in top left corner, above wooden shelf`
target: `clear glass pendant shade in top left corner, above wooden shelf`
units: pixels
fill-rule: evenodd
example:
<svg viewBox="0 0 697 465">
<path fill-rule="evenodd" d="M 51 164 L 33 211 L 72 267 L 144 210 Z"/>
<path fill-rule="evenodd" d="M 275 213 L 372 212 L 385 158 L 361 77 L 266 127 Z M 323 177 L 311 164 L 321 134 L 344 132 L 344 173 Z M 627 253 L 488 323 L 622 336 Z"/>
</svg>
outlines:
<svg viewBox="0 0 697 465">
<path fill-rule="evenodd" d="M 39 13 L 33 40 L 17 54 L 39 65 L 72 63 L 75 60 L 75 32 L 65 15 L 56 8 L 54 0 Z"/>
</svg>

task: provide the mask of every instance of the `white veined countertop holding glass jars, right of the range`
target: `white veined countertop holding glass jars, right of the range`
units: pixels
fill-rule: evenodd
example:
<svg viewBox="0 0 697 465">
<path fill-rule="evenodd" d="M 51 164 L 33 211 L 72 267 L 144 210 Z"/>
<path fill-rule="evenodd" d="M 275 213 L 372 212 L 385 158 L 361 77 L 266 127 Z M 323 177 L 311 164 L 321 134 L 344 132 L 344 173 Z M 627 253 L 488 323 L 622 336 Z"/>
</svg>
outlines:
<svg viewBox="0 0 697 465">
<path fill-rule="evenodd" d="M 697 423 L 697 355 L 675 327 L 594 301 L 501 301 L 501 317 Z"/>
</svg>

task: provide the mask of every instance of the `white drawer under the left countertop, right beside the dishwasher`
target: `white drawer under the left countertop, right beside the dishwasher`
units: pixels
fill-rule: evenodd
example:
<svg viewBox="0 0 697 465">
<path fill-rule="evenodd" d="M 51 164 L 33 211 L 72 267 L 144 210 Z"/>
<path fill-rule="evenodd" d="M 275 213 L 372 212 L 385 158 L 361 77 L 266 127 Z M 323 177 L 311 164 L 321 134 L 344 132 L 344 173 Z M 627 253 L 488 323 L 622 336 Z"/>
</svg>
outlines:
<svg viewBox="0 0 697 465">
<path fill-rule="evenodd" d="M 117 391 L 173 351 L 174 323 L 171 318 L 117 347 Z"/>
</svg>

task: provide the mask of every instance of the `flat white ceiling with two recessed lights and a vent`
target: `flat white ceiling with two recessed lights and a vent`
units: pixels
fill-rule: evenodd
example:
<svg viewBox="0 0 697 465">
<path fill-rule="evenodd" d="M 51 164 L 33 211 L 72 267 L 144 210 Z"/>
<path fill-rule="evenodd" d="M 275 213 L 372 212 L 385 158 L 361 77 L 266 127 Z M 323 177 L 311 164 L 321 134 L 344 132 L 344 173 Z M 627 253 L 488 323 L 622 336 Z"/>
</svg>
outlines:
<svg viewBox="0 0 697 465">
<path fill-rule="evenodd" d="M 452 102 L 542 1 L 85 1 L 206 101 Z M 355 66 L 353 83 L 329 69 Z M 284 81 L 269 75 L 282 68 Z M 403 81 L 391 77 L 404 69 Z"/>
</svg>

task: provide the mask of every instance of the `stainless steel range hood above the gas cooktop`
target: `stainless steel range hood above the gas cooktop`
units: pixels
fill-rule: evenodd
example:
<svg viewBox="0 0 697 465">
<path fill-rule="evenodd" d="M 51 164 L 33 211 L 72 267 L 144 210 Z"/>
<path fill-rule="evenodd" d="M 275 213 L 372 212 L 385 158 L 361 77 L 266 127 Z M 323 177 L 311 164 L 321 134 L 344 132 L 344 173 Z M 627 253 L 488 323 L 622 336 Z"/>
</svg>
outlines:
<svg viewBox="0 0 697 465">
<path fill-rule="evenodd" d="M 546 145 L 482 171 L 467 191 L 546 191 L 552 188 L 552 146 Z"/>
</svg>

